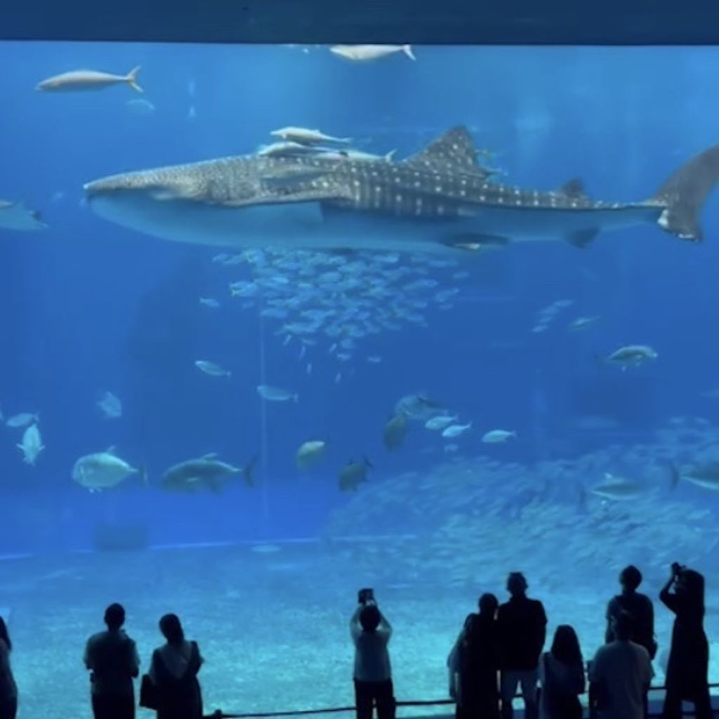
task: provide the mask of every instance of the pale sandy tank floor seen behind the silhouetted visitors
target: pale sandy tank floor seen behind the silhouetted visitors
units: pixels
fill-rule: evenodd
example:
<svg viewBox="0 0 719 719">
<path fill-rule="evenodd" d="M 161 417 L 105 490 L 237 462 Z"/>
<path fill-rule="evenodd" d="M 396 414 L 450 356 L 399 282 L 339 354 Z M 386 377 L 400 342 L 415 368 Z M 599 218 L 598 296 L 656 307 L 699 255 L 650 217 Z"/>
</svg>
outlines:
<svg viewBox="0 0 719 719">
<path fill-rule="evenodd" d="M 347 622 L 362 586 L 375 587 L 395 630 L 390 653 L 398 699 L 446 697 L 445 659 L 464 616 L 475 608 L 480 591 L 495 591 L 503 600 L 501 585 L 476 591 L 375 585 L 340 556 L 320 544 L 283 544 L 4 559 L 0 612 L 9 612 L 21 716 L 90 715 L 84 643 L 102 628 L 104 608 L 114 601 L 127 609 L 127 631 L 145 668 L 152 649 L 162 644 L 160 615 L 180 615 L 206 659 L 201 672 L 206 710 L 352 705 Z M 603 639 L 605 602 L 614 587 L 531 589 L 544 601 L 549 636 L 557 624 L 572 624 L 590 658 Z M 656 609 L 656 623 L 660 683 L 671 631 L 663 608 Z M 706 629 L 710 638 L 719 638 L 719 615 L 711 608 Z M 719 644 L 712 650 L 710 679 L 717 682 Z M 141 710 L 143 715 L 149 713 Z"/>
</svg>

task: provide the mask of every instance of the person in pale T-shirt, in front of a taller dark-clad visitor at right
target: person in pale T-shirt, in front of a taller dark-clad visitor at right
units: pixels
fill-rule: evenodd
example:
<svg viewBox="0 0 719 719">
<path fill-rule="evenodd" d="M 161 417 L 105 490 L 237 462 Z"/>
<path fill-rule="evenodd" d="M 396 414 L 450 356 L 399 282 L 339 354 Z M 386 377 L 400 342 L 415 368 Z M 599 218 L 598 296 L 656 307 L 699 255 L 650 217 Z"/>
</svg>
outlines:
<svg viewBox="0 0 719 719">
<path fill-rule="evenodd" d="M 612 616 L 616 638 L 600 646 L 590 664 L 590 717 L 643 719 L 651 669 L 649 652 L 631 641 L 633 620 L 626 612 Z"/>
</svg>

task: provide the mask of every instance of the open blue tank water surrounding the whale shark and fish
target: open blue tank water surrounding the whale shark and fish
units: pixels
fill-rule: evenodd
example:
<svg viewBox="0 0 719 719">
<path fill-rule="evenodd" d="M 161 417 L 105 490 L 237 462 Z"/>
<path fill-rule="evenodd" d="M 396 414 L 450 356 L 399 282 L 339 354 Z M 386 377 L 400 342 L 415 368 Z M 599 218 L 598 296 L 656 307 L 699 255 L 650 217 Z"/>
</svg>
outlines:
<svg viewBox="0 0 719 719">
<path fill-rule="evenodd" d="M 139 523 L 151 544 L 321 536 L 337 512 L 352 516 L 357 498 L 339 492 L 336 475 L 363 454 L 375 470 L 358 495 L 368 487 L 381 494 L 383 486 L 389 493 L 402 472 L 429 477 L 455 456 L 533 467 L 608 445 L 615 446 L 613 471 L 644 475 L 659 461 L 628 450 L 631 457 L 623 457 L 621 448 L 666 444 L 667 436 L 654 433 L 676 428 L 669 424 L 676 416 L 707 418 L 712 429 L 702 451 L 713 432 L 719 438 L 719 405 L 702 394 L 719 386 L 719 193 L 703 211 L 702 244 L 644 226 L 601 235 L 585 250 L 542 242 L 459 257 L 457 267 L 429 275 L 449 283 L 452 272 L 469 273 L 452 283 L 459 287 L 454 306 L 422 311 L 426 326 L 362 338 L 339 382 L 328 342 L 300 361 L 298 345 L 285 348 L 275 335 L 281 323 L 229 298 L 227 284 L 248 279 L 249 270 L 213 262 L 224 248 L 145 237 L 80 206 L 89 180 L 253 152 L 285 125 L 319 127 L 361 139 L 362 149 L 406 157 L 465 124 L 479 147 L 495 151 L 493 163 L 508 182 L 551 189 L 579 176 L 592 197 L 617 201 L 651 196 L 682 162 L 719 141 L 719 54 L 712 49 L 418 47 L 416 55 L 416 63 L 394 55 L 355 65 L 316 47 L 0 45 L 0 198 L 24 200 L 50 226 L 0 229 L 0 407 L 5 416 L 39 411 L 46 446 L 30 467 L 14 446 L 22 430 L 0 431 L 0 554 L 57 553 L 52 562 L 67 567 L 67 553 L 92 549 L 103 523 Z M 126 73 L 134 65 L 142 65 L 150 114 L 127 106 L 139 96 L 124 86 L 57 95 L 33 89 L 65 70 Z M 412 262 L 401 258 L 398 266 Z M 200 296 L 219 298 L 221 308 L 200 306 Z M 562 299 L 572 306 L 547 331 L 533 333 L 537 313 Z M 600 320 L 587 331 L 567 331 L 577 316 Z M 628 372 L 598 365 L 595 354 L 623 344 L 650 344 L 659 359 Z M 382 362 L 367 362 L 370 354 Z M 196 359 L 214 359 L 232 378 L 201 374 Z M 267 403 L 263 415 L 255 391 L 263 381 L 293 389 L 299 402 Z M 122 418 L 99 413 L 96 401 L 106 390 L 122 399 Z M 382 429 L 396 400 L 418 391 L 472 421 L 456 453 L 445 453 L 446 443 L 421 423 L 413 423 L 400 452 L 386 451 Z M 577 429 L 582 418 L 597 416 L 609 418 L 610 429 Z M 518 439 L 480 443 L 498 427 L 516 430 Z M 329 440 L 328 456 L 311 477 L 299 475 L 295 452 L 314 438 Z M 667 452 L 689 461 L 681 441 L 677 435 Z M 71 481 L 73 463 L 109 446 L 145 464 L 151 485 L 171 464 L 206 452 L 235 464 L 259 453 L 259 486 L 237 482 L 221 497 L 172 495 L 128 480 L 91 495 Z M 573 505 L 576 482 L 592 485 L 605 469 L 570 470 L 566 492 L 555 487 L 548 504 Z M 667 491 L 658 476 L 648 481 Z M 431 490 L 438 507 L 452 494 L 451 476 L 443 482 Z M 498 491 L 511 507 L 511 486 Z M 684 502 L 667 531 L 684 528 L 697 507 L 715 512 L 715 497 L 696 487 L 667 495 L 666 502 Z M 401 501 L 411 503 L 411 493 Z M 524 501 L 526 492 L 517 506 Z M 661 506 L 664 495 L 656 501 Z M 460 501 L 446 515 L 462 511 Z M 373 516 L 368 526 L 393 533 L 393 515 Z M 637 547 L 643 541 L 642 551 L 651 553 L 649 539 Z M 682 559 L 683 541 L 670 561 Z M 431 542 L 418 542 L 431 555 Z M 693 545 L 690 556 L 701 559 Z M 142 567 L 137 557 L 129 566 Z M 506 569 L 516 568 L 510 563 Z M 210 565 L 206 572 L 209 582 Z M 292 595 L 291 585 L 285 590 Z M 63 591 L 68 602 L 81 601 L 81 590 Z M 708 591 L 715 595 L 711 582 Z"/>
</svg>

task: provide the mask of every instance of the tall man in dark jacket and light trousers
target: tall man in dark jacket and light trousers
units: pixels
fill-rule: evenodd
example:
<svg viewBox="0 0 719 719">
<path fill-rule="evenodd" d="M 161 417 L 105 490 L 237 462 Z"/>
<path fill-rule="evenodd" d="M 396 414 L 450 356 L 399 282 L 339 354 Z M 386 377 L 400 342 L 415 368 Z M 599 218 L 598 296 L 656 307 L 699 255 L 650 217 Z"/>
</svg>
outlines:
<svg viewBox="0 0 719 719">
<path fill-rule="evenodd" d="M 511 597 L 500 605 L 497 620 L 500 643 L 500 672 L 503 719 L 513 715 L 512 698 L 522 687 L 526 719 L 536 719 L 539 656 L 546 638 L 544 606 L 526 595 L 527 580 L 521 572 L 507 578 Z"/>
</svg>

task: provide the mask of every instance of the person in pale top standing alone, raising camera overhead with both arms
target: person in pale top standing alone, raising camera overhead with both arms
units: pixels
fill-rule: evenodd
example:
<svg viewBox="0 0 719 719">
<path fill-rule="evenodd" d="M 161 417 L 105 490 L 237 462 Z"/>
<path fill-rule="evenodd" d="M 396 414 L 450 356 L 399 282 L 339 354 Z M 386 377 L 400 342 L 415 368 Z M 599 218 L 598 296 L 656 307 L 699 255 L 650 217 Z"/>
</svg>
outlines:
<svg viewBox="0 0 719 719">
<path fill-rule="evenodd" d="M 357 719 L 394 719 L 395 696 L 392 685 L 390 654 L 387 646 L 392 627 L 375 601 L 371 589 L 359 590 L 357 609 L 349 620 L 354 643 L 354 697 Z"/>
</svg>

